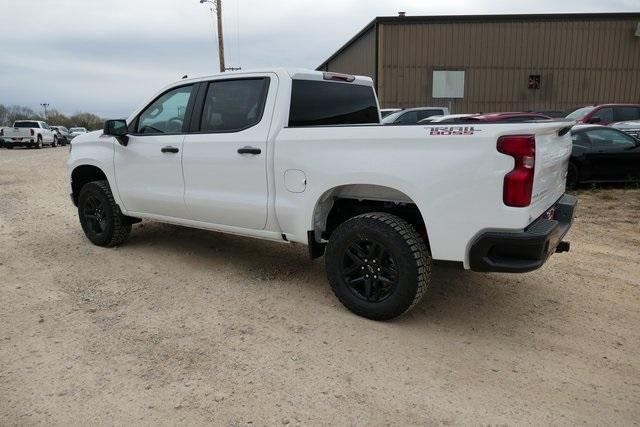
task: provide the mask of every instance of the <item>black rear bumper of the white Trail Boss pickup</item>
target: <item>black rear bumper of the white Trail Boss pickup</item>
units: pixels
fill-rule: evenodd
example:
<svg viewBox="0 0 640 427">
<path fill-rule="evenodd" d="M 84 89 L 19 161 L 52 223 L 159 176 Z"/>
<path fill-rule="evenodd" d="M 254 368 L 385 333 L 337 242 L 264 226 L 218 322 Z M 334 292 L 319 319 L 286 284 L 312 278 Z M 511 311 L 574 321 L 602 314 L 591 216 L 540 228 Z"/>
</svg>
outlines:
<svg viewBox="0 0 640 427">
<path fill-rule="evenodd" d="M 554 252 L 568 251 L 562 238 L 571 228 L 577 204 L 576 197 L 565 194 L 524 231 L 480 235 L 469 251 L 471 269 L 524 273 L 541 267 Z"/>
</svg>

